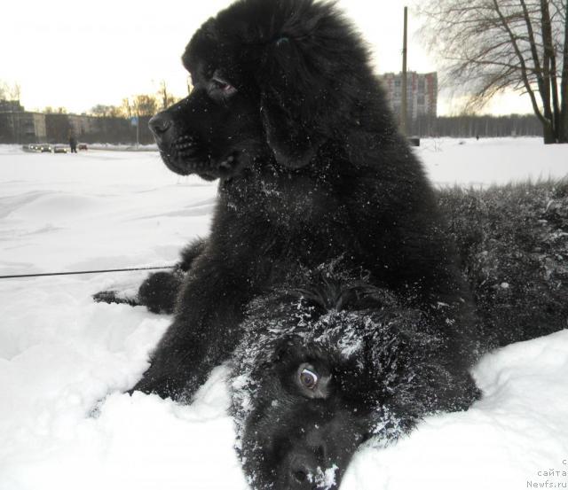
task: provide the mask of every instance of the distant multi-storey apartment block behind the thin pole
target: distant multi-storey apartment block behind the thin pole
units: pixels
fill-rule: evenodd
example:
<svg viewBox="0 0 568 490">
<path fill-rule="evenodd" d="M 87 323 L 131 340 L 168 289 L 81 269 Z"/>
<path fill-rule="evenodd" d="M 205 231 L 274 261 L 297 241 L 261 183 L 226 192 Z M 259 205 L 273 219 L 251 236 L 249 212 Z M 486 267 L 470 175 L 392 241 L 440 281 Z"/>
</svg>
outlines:
<svg viewBox="0 0 568 490">
<path fill-rule="evenodd" d="M 402 74 L 383 74 L 381 80 L 390 108 L 399 118 L 402 105 Z M 435 118 L 438 115 L 438 74 L 408 72 L 406 101 L 408 121 L 416 121 L 422 116 Z"/>
</svg>

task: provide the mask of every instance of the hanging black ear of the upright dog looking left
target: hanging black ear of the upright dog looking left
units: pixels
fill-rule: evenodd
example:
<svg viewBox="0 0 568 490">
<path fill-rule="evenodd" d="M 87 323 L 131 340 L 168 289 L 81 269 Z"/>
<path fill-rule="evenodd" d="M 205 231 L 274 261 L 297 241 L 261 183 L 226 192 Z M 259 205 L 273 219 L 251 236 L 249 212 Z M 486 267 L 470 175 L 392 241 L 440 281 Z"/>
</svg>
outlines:
<svg viewBox="0 0 568 490">
<path fill-rule="evenodd" d="M 266 140 L 278 163 L 304 167 L 325 141 L 321 105 L 327 90 L 302 47 L 280 37 L 264 50 L 258 75 Z"/>
</svg>

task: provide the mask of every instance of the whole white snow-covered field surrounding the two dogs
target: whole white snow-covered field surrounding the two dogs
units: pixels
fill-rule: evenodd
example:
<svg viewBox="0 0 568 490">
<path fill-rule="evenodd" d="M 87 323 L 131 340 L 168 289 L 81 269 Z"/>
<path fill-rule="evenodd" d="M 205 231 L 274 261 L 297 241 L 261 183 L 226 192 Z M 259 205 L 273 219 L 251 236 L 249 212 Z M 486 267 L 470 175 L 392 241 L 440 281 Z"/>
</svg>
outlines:
<svg viewBox="0 0 568 490">
<path fill-rule="evenodd" d="M 441 185 L 568 175 L 568 145 L 538 138 L 424 140 L 416 152 Z M 0 146 L 0 275 L 169 265 L 207 235 L 215 196 L 156 152 Z M 121 393 L 170 319 L 91 294 L 144 276 L 0 280 L 0 490 L 247 488 L 224 368 L 191 406 Z M 567 488 L 568 331 L 487 354 L 474 375 L 481 401 L 362 447 L 342 490 Z"/>
</svg>

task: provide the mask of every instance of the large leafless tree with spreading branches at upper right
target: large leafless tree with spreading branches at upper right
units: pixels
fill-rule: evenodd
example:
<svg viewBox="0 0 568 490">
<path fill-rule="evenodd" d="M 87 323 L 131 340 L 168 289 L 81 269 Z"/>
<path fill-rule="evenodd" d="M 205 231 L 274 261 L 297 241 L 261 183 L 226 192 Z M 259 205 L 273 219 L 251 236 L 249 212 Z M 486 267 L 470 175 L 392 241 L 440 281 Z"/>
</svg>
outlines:
<svg viewBox="0 0 568 490">
<path fill-rule="evenodd" d="M 568 0 L 428 0 L 420 11 L 430 48 L 471 105 L 526 93 L 545 143 L 568 143 Z"/>
</svg>

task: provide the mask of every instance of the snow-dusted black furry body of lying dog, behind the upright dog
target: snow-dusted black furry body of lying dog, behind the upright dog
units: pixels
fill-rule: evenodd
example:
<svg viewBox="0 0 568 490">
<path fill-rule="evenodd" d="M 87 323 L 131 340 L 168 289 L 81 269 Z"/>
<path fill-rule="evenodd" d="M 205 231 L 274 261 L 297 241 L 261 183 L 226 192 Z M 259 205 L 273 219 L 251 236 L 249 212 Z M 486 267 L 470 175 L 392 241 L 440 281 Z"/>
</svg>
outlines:
<svg viewBox="0 0 568 490">
<path fill-rule="evenodd" d="M 445 190 L 486 351 L 568 327 L 568 179 Z"/>
</svg>

